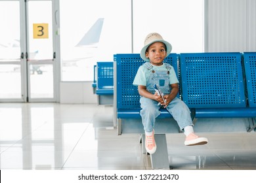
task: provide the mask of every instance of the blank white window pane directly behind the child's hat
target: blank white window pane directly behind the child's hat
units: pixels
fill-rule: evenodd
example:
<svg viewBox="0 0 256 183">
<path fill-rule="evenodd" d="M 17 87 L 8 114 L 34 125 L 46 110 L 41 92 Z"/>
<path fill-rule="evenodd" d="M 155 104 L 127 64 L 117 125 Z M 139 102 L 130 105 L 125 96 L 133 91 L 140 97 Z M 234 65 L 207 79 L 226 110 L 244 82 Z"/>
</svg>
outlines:
<svg viewBox="0 0 256 183">
<path fill-rule="evenodd" d="M 134 52 L 148 33 L 158 32 L 173 53 L 203 51 L 203 0 L 133 1 Z"/>
</svg>

